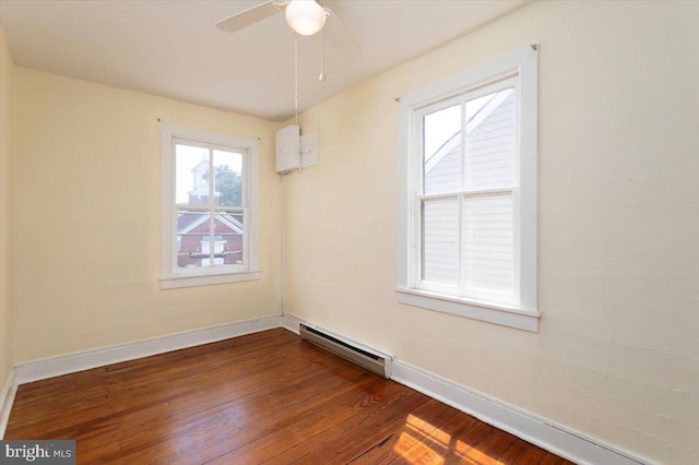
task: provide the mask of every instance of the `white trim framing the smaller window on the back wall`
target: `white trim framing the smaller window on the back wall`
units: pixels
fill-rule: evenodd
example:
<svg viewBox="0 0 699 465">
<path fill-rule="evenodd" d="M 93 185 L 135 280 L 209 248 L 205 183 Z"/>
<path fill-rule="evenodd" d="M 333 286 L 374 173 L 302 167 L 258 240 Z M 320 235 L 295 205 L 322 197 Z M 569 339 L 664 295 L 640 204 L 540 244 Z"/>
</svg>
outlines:
<svg viewBox="0 0 699 465">
<path fill-rule="evenodd" d="M 179 287 L 206 286 L 212 284 L 236 283 L 260 278 L 260 204 L 259 204 L 259 141 L 256 139 L 236 138 L 234 135 L 216 134 L 213 132 L 179 126 L 158 123 L 161 132 L 161 289 Z M 247 250 L 247 266 L 236 270 L 212 267 L 197 272 L 176 270 L 174 245 L 177 240 L 177 205 L 175 204 L 175 163 L 174 140 L 183 139 L 235 147 L 246 151 L 248 170 L 248 192 L 246 223 L 244 225 L 245 249 Z"/>
</svg>

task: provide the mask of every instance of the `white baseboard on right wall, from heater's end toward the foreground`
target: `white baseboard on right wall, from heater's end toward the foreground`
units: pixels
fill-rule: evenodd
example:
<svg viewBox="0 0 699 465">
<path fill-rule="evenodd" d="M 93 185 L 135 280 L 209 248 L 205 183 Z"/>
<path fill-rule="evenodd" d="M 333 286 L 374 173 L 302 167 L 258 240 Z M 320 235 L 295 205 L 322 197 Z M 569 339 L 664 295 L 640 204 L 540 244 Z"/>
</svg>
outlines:
<svg viewBox="0 0 699 465">
<path fill-rule="evenodd" d="M 391 379 L 577 464 L 653 464 L 402 361 Z"/>
</svg>

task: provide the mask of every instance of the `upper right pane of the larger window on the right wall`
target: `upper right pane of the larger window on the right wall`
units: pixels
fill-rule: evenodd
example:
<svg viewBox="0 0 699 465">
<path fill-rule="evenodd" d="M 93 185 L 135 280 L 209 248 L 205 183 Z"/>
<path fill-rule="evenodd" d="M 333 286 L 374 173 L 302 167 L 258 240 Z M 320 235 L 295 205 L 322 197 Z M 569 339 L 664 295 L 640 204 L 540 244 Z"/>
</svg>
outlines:
<svg viewBox="0 0 699 465">
<path fill-rule="evenodd" d="M 514 183 L 517 93 L 506 88 L 466 103 L 465 186 Z"/>
</svg>

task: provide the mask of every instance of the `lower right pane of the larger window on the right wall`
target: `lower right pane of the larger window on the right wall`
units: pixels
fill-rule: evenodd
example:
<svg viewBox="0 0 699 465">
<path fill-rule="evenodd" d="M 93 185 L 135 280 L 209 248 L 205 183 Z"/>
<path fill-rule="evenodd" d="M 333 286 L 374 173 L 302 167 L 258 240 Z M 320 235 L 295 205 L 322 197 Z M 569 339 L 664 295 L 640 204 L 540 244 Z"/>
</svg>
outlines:
<svg viewBox="0 0 699 465">
<path fill-rule="evenodd" d="M 465 198 L 462 208 L 464 286 L 511 294 L 514 270 L 512 194 Z"/>
</svg>

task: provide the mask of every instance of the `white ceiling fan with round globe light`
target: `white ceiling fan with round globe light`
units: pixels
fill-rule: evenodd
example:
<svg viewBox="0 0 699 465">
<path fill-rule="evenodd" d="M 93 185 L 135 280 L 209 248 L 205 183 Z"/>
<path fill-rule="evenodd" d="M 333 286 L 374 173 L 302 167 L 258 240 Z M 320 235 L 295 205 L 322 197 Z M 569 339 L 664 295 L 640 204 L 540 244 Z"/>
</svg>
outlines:
<svg viewBox="0 0 699 465">
<path fill-rule="evenodd" d="M 245 11 L 236 13 L 216 23 L 216 27 L 235 33 L 251 24 L 277 13 L 284 13 L 286 23 L 296 33 L 310 36 L 325 29 L 328 36 L 341 55 L 354 57 L 362 50 L 352 33 L 340 21 L 337 14 L 316 0 L 268 0 Z"/>
</svg>

